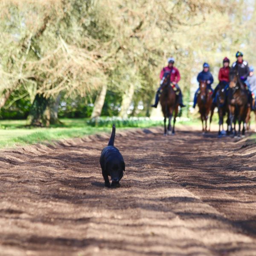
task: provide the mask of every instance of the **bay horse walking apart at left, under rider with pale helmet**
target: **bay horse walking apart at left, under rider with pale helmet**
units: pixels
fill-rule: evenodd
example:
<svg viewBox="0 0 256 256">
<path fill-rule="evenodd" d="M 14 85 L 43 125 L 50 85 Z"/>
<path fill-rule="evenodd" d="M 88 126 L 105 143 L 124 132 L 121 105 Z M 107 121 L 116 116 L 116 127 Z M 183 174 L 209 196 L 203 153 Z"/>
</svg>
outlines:
<svg viewBox="0 0 256 256">
<path fill-rule="evenodd" d="M 170 73 L 164 73 L 161 81 L 161 95 L 160 104 L 164 116 L 164 135 L 175 134 L 175 122 L 178 114 L 178 95 L 177 88 L 170 82 Z M 175 111 L 173 127 L 172 127 L 172 116 Z M 169 119 L 168 128 L 166 129 L 166 119 Z M 167 132 L 168 130 L 168 132 Z"/>
</svg>

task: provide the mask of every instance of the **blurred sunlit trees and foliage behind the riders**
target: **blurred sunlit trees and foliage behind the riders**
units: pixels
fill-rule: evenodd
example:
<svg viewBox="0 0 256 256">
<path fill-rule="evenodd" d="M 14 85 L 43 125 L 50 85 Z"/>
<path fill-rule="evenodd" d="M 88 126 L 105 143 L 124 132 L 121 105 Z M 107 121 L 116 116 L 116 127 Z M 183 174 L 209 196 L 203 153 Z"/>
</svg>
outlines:
<svg viewBox="0 0 256 256">
<path fill-rule="evenodd" d="M 209 62 L 239 49 L 253 64 L 253 0 L 2 0 L 0 115 L 32 125 L 58 116 L 149 116 L 174 56 L 185 103 Z M 189 114 L 189 105 L 183 111 Z"/>
</svg>

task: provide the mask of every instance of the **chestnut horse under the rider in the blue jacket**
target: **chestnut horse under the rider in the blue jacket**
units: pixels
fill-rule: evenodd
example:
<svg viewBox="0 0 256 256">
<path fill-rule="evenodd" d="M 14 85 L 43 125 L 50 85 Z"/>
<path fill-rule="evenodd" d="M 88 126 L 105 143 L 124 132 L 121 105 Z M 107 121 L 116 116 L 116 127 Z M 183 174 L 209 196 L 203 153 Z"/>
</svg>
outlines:
<svg viewBox="0 0 256 256">
<path fill-rule="evenodd" d="M 202 121 L 202 131 L 207 131 L 207 120 L 209 111 L 212 105 L 212 91 L 207 88 L 207 81 L 200 81 L 199 82 L 200 91 L 198 94 L 198 107 L 199 113 L 201 115 Z M 204 121 L 205 121 L 205 129 L 204 129 Z"/>
</svg>

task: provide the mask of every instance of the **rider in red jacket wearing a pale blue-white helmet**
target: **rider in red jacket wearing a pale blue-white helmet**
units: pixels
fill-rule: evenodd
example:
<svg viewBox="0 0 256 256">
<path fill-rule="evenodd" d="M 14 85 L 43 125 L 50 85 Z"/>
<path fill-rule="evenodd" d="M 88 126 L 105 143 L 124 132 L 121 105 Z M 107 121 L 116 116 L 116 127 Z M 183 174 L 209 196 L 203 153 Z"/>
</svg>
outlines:
<svg viewBox="0 0 256 256">
<path fill-rule="evenodd" d="M 172 84 L 174 84 L 175 87 L 177 88 L 177 90 L 179 91 L 179 105 L 181 108 L 183 108 L 183 107 L 185 107 L 185 105 L 183 105 L 182 93 L 181 93 L 180 87 L 177 84 L 180 81 L 180 72 L 176 67 L 174 67 L 174 65 L 173 65 L 174 62 L 175 62 L 174 58 L 168 58 L 168 66 L 164 67 L 161 70 L 160 79 L 163 78 L 164 73 L 171 73 L 170 80 L 171 80 Z M 161 90 L 161 87 L 158 88 L 157 94 L 156 94 L 156 99 L 155 99 L 155 104 L 151 105 L 151 107 L 157 108 L 157 104 L 159 102 L 159 98 L 160 98 L 160 94 L 161 94 L 160 90 Z"/>
</svg>

